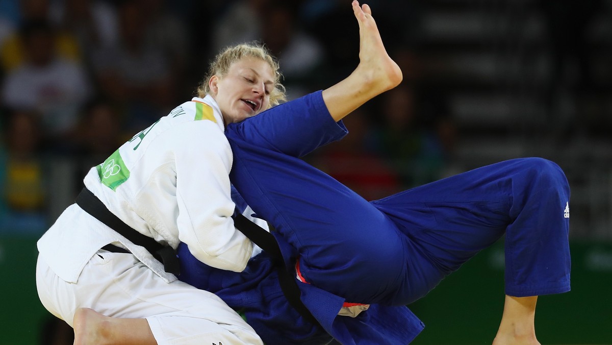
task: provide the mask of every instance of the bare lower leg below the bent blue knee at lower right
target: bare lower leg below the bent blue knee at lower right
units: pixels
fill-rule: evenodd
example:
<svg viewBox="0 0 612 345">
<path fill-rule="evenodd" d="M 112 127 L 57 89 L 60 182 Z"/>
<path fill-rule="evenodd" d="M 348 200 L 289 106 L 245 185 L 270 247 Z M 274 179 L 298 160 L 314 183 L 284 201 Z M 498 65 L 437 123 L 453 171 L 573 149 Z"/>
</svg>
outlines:
<svg viewBox="0 0 612 345">
<path fill-rule="evenodd" d="M 493 345 L 533 344 L 535 338 L 535 303 L 537 296 L 512 297 L 506 295 L 504 313 Z"/>
</svg>

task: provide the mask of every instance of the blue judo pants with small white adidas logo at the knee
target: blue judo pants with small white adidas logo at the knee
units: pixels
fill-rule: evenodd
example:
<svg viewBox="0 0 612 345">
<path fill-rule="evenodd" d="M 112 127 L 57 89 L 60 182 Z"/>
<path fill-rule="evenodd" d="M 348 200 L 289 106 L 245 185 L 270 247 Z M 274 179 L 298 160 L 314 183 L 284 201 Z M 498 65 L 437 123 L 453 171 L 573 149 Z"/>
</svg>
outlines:
<svg viewBox="0 0 612 345">
<path fill-rule="evenodd" d="M 505 233 L 506 294 L 570 289 L 558 165 L 514 159 L 368 202 L 299 159 L 345 134 L 320 92 L 226 131 L 232 183 L 310 284 L 351 303 L 406 305 Z"/>
</svg>

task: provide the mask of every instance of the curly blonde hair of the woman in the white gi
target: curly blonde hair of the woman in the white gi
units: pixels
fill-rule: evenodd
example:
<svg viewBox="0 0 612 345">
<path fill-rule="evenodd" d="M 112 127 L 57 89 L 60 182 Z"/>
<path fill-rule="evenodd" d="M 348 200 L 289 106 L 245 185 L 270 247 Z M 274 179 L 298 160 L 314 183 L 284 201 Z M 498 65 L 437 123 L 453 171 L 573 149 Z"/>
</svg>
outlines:
<svg viewBox="0 0 612 345">
<path fill-rule="evenodd" d="M 208 81 L 213 75 L 223 77 L 230 70 L 230 66 L 240 59 L 251 56 L 265 61 L 270 65 L 272 71 L 274 71 L 274 89 L 270 92 L 270 107 L 280 104 L 286 100 L 285 86 L 280 83 L 282 75 L 279 72 L 278 61 L 272 56 L 270 51 L 264 47 L 264 45 L 258 44 L 257 42 L 250 42 L 235 45 L 233 47 L 227 47 L 225 50 L 218 53 L 215 59 L 212 61 L 208 68 L 208 72 L 204 76 L 204 80 L 198 86 L 196 91 L 198 97 L 204 98 L 207 94 L 211 93 L 211 87 L 208 85 Z"/>
</svg>

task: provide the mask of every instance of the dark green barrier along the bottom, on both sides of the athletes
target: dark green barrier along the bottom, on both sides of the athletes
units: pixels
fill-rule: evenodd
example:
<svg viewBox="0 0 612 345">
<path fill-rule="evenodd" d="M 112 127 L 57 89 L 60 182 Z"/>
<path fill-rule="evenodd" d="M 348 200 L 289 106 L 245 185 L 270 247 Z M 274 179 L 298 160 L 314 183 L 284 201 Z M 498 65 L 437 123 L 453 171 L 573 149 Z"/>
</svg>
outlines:
<svg viewBox="0 0 612 345">
<path fill-rule="evenodd" d="M 50 314 L 36 294 L 37 238 L 0 235 L 0 344 L 42 344 Z M 542 344 L 612 344 L 612 244 L 572 242 L 572 291 L 539 298 Z M 413 344 L 490 344 L 504 303 L 503 243 L 480 252 L 411 305 L 425 322 Z"/>
</svg>

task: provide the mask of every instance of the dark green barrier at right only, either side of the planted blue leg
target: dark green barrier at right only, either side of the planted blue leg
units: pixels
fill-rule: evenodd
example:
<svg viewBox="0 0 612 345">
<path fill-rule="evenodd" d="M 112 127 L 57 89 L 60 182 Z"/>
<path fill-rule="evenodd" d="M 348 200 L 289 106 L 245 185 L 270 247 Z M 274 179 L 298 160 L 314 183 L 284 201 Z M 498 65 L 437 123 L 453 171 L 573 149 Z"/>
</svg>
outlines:
<svg viewBox="0 0 612 345">
<path fill-rule="evenodd" d="M 572 290 L 538 298 L 542 344 L 612 344 L 612 245 L 576 243 Z M 411 305 L 425 322 L 414 344 L 491 344 L 504 305 L 503 243 L 480 252 Z"/>
</svg>

